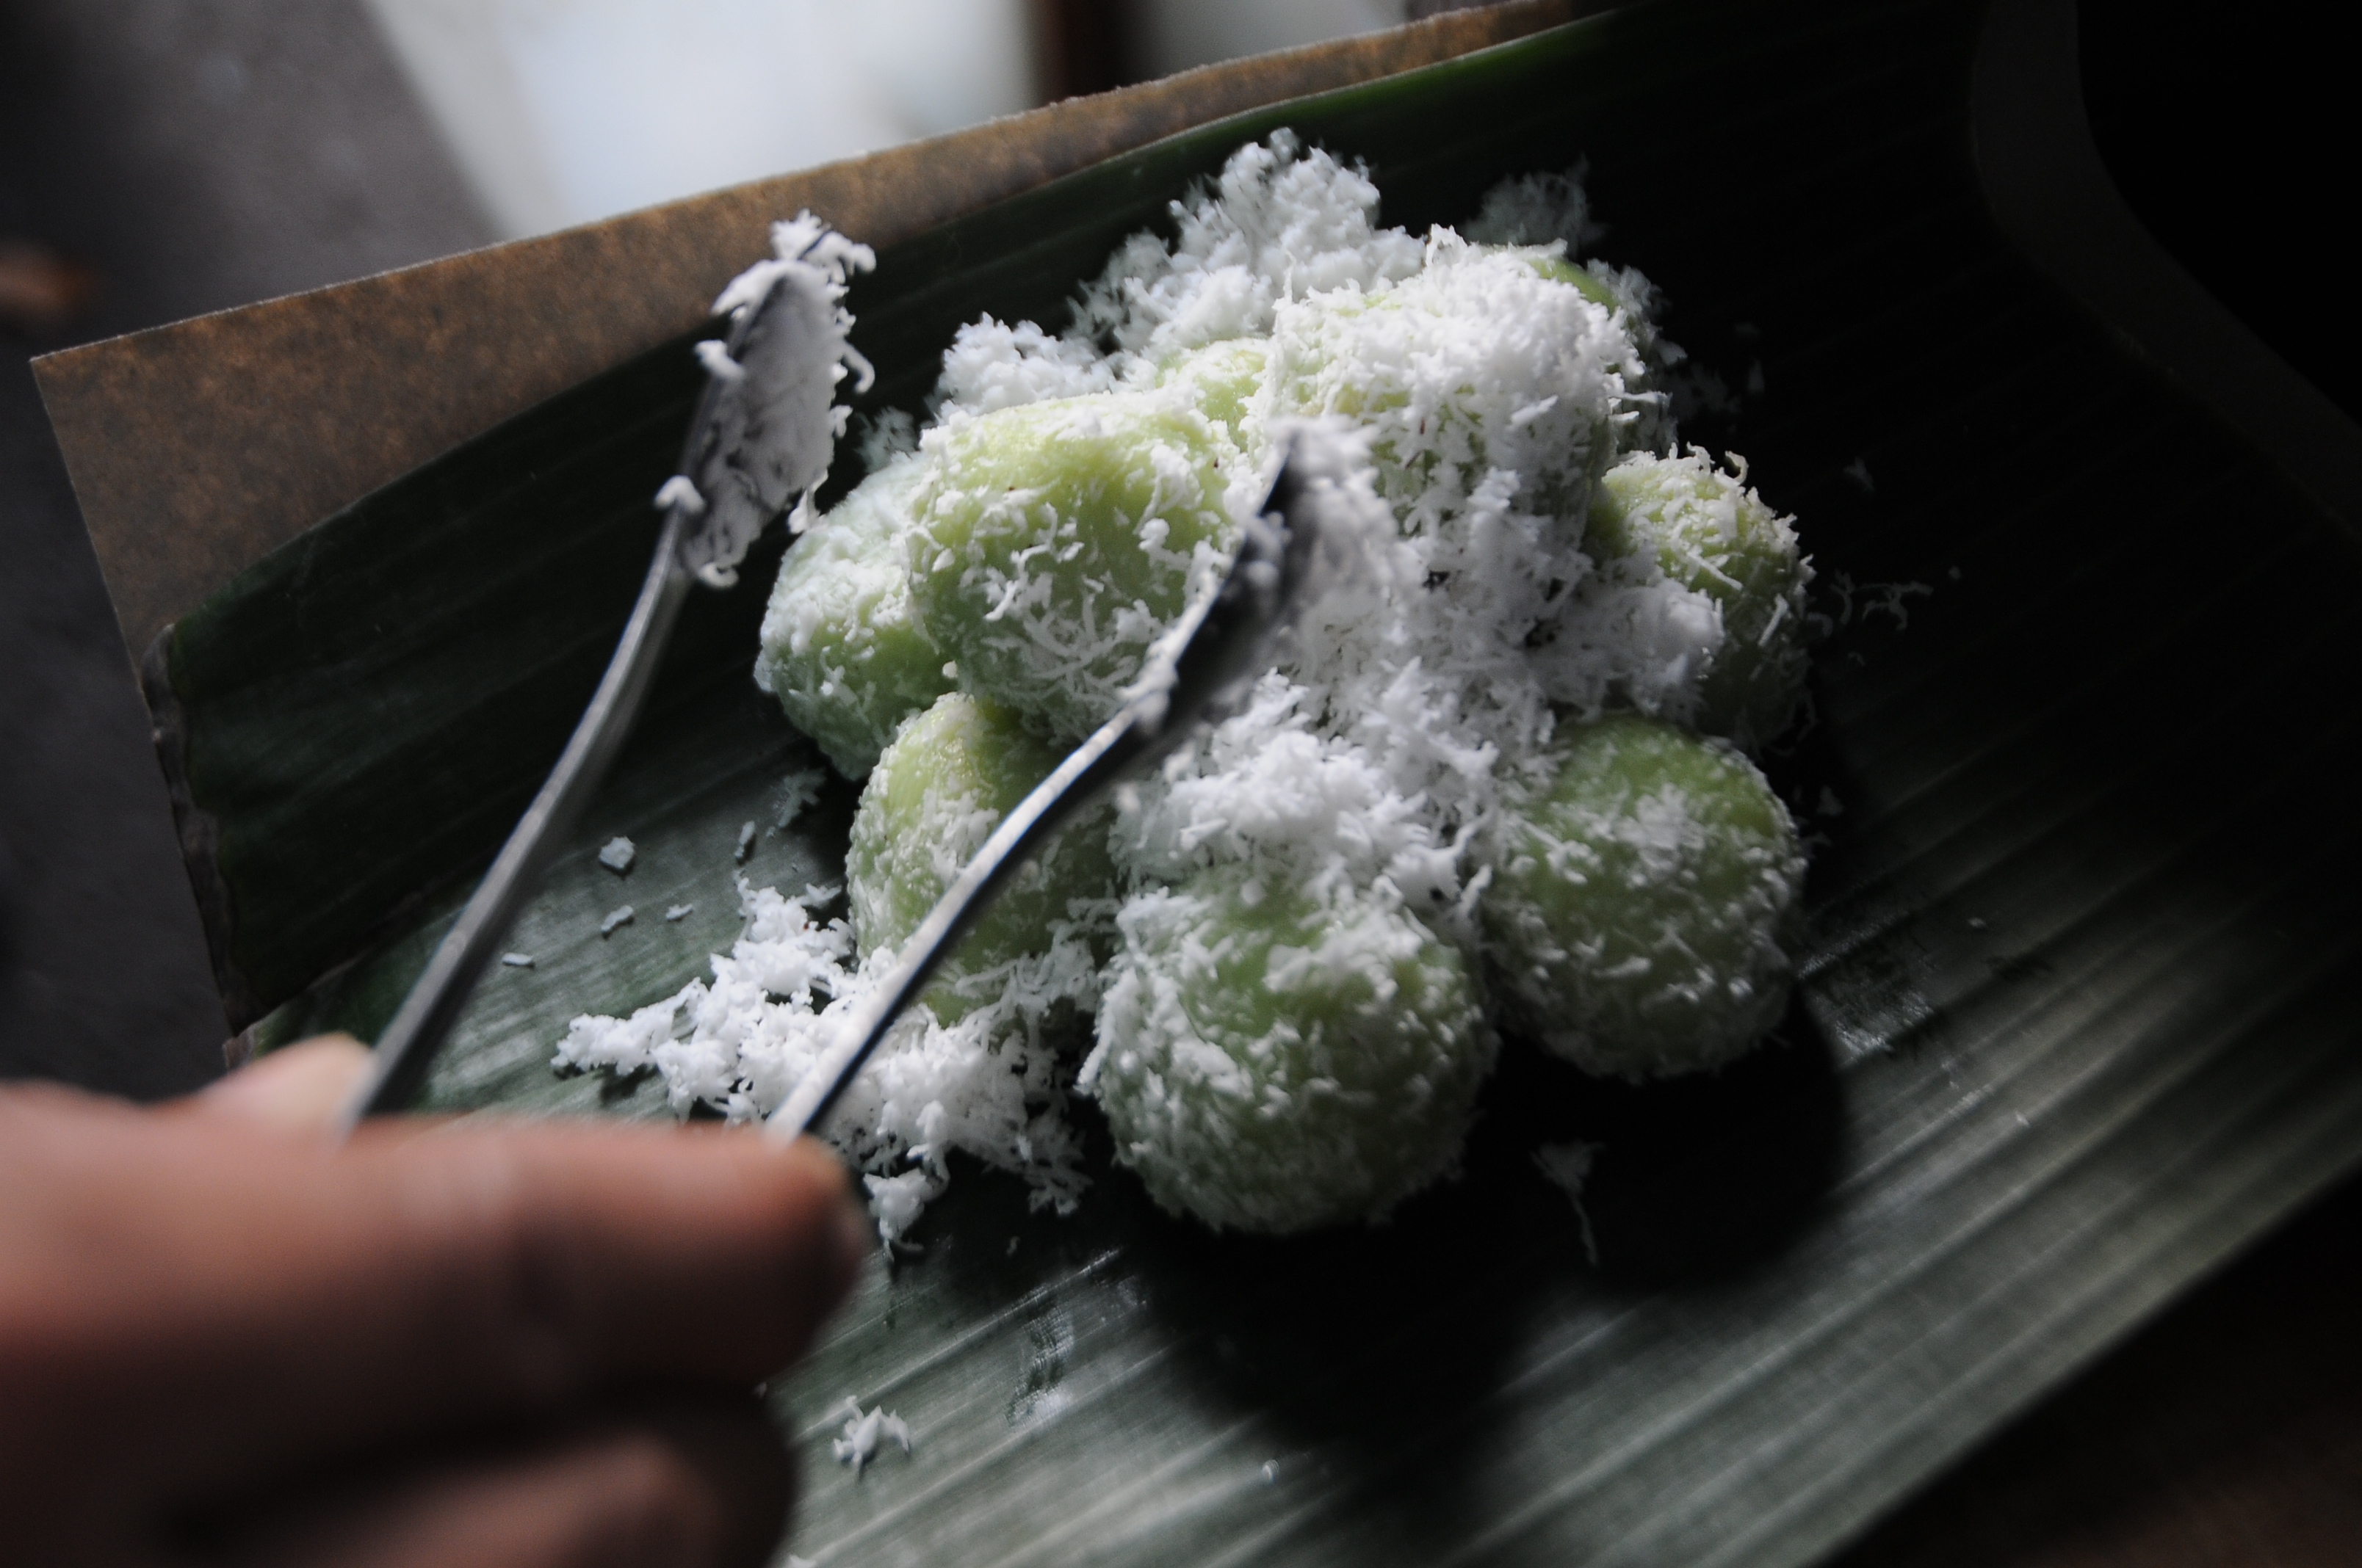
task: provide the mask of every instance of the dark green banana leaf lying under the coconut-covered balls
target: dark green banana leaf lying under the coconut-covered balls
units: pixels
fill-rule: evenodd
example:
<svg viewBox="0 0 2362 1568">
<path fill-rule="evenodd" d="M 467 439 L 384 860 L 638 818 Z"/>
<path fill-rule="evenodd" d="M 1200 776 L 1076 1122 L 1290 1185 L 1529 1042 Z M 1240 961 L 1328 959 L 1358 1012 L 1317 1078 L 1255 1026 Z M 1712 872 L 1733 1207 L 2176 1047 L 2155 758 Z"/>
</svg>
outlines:
<svg viewBox="0 0 2362 1568">
<path fill-rule="evenodd" d="M 1365 158 L 1415 227 L 1587 161 L 1601 253 L 1727 392 L 1689 435 L 1753 460 L 1821 571 L 1814 713 L 1772 758 L 1816 860 L 1764 1051 L 1632 1089 L 1512 1041 L 1460 1178 L 1382 1228 L 1214 1237 L 1103 1148 L 1068 1219 L 961 1169 L 775 1393 L 808 1450 L 796 1551 L 1805 1563 L 2353 1167 L 2362 569 L 2003 241 L 1975 28 L 1953 0 L 1660 0 L 879 257 L 867 413 L 916 409 L 978 312 L 1056 324 L 1278 125 Z M 161 642 L 191 874 L 257 1044 L 392 1011 L 595 680 L 694 385 L 673 345 L 567 392 Z M 702 973 L 737 876 L 839 874 L 850 791 L 787 812 L 817 760 L 746 680 L 775 560 L 694 607 L 517 926 L 534 966 L 487 978 L 428 1108 L 666 1115 L 647 1079 L 553 1074 L 567 1018 Z M 593 860 L 619 831 L 628 876 Z M 1580 1204 L 1547 1143 L 1590 1145 Z M 916 1452 L 831 1464 L 843 1396 Z"/>
</svg>

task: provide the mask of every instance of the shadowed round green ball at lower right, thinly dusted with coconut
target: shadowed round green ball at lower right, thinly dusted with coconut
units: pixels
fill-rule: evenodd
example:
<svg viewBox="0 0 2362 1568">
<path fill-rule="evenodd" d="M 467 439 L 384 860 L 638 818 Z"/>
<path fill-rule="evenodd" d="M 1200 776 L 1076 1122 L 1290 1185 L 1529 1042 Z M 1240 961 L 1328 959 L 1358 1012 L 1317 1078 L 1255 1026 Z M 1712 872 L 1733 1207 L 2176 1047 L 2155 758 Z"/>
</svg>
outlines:
<svg viewBox="0 0 2362 1568">
<path fill-rule="evenodd" d="M 1542 760 L 1493 829 L 1505 1023 L 1604 1077 L 1741 1056 L 1788 1006 L 1788 808 L 1734 746 L 1632 713 L 1561 727 Z"/>
</svg>

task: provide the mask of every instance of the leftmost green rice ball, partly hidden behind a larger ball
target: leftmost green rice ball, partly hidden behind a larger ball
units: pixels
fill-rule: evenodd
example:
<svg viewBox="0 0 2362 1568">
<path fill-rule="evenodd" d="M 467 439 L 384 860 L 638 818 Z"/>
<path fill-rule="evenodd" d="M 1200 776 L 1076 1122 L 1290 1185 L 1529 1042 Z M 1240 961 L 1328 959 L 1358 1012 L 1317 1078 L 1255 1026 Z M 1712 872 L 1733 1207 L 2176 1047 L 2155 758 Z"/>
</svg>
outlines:
<svg viewBox="0 0 2362 1568">
<path fill-rule="evenodd" d="M 900 458 L 839 501 L 787 553 L 763 614 L 756 685 L 848 779 L 876 765 L 895 725 L 952 690 L 902 571 L 924 477 L 921 458 Z"/>
</svg>

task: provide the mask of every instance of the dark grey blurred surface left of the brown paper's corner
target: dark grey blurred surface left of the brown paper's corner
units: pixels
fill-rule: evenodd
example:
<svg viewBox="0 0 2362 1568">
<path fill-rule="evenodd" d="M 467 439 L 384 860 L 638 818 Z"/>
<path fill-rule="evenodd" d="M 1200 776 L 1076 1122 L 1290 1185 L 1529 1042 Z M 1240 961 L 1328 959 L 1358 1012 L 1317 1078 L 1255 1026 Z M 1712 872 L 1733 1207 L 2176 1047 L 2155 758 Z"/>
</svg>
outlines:
<svg viewBox="0 0 2362 1568">
<path fill-rule="evenodd" d="M 94 290 L 0 324 L 0 1072 L 168 1096 L 224 1034 L 26 359 L 489 236 L 354 0 L 0 0 L 0 241 Z"/>
</svg>

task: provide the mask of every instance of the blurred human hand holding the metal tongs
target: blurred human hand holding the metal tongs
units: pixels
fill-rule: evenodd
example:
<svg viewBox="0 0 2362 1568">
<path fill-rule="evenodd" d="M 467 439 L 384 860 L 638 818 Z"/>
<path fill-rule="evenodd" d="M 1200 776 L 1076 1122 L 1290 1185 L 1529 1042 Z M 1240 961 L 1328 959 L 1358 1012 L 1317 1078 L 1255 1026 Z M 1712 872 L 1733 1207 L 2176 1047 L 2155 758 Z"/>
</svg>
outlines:
<svg viewBox="0 0 2362 1568">
<path fill-rule="evenodd" d="M 725 1129 L 326 1129 L 314 1041 L 175 1108 L 0 1091 L 12 1563 L 758 1563 L 751 1389 L 869 1223 L 827 1150 Z"/>
</svg>

